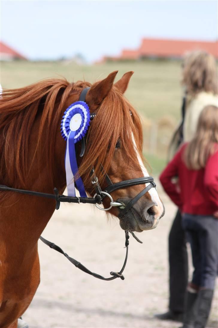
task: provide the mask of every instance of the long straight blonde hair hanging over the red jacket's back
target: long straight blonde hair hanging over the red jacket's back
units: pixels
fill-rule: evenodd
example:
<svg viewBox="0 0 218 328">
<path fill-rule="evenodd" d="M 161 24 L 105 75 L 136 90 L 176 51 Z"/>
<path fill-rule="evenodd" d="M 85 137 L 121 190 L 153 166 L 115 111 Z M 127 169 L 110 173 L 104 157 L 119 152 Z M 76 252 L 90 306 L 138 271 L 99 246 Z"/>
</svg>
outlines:
<svg viewBox="0 0 218 328">
<path fill-rule="evenodd" d="M 206 106 L 202 110 L 194 138 L 185 148 L 184 162 L 189 169 L 206 166 L 208 157 L 218 149 L 218 108 Z"/>
</svg>

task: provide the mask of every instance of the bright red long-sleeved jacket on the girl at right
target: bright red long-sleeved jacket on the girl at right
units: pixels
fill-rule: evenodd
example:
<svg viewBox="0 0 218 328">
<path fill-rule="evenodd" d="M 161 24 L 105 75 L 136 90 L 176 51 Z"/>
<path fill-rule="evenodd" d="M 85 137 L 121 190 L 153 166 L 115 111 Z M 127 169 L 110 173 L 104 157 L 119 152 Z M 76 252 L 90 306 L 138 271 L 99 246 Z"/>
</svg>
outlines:
<svg viewBox="0 0 218 328">
<path fill-rule="evenodd" d="M 209 157 L 205 168 L 189 170 L 182 160 L 186 146 L 178 150 L 163 170 L 160 182 L 183 213 L 213 215 L 218 211 L 218 151 Z M 172 182 L 174 177 L 179 179 L 179 188 Z"/>
</svg>

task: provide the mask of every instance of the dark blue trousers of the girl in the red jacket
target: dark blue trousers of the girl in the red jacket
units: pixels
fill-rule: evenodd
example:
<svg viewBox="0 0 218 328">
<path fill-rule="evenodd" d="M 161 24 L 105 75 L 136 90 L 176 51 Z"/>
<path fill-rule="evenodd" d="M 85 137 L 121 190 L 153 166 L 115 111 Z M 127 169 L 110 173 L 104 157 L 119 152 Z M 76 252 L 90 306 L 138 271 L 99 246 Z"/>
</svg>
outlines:
<svg viewBox="0 0 218 328">
<path fill-rule="evenodd" d="M 182 226 L 192 249 L 193 284 L 214 289 L 218 268 L 218 219 L 185 213 Z"/>
</svg>

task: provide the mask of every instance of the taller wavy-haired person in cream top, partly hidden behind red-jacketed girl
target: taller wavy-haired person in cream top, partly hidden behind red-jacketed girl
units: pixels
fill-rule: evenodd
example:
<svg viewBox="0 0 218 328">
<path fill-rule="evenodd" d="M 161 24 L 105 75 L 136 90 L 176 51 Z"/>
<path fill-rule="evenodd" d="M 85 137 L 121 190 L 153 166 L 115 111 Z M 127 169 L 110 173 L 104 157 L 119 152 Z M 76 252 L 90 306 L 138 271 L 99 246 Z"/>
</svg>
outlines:
<svg viewBox="0 0 218 328">
<path fill-rule="evenodd" d="M 185 90 L 182 120 L 170 143 L 168 159 L 174 156 L 183 142 L 193 138 L 203 108 L 208 105 L 218 106 L 217 65 L 213 56 L 200 50 L 187 53 L 183 61 L 182 85 Z M 182 321 L 184 313 L 188 260 L 181 221 L 178 210 L 169 234 L 169 311 L 156 315 L 162 320 Z"/>
</svg>

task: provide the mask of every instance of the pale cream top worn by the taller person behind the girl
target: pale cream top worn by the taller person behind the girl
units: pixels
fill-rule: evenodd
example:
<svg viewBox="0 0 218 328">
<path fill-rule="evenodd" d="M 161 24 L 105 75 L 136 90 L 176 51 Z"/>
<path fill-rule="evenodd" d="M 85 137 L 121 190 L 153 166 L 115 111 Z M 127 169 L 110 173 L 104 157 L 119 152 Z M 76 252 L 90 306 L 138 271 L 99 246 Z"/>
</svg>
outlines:
<svg viewBox="0 0 218 328">
<path fill-rule="evenodd" d="M 208 105 L 218 107 L 218 96 L 212 93 L 199 92 L 196 97 L 188 101 L 183 125 L 184 142 L 189 142 L 193 138 L 200 113 Z"/>
</svg>

